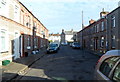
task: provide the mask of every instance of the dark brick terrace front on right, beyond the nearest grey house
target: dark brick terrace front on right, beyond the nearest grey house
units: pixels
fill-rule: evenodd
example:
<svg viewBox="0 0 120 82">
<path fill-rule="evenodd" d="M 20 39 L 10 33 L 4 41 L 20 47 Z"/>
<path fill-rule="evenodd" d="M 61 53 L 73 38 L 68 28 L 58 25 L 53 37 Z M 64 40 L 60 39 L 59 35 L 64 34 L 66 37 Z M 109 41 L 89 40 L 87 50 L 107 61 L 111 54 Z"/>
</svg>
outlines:
<svg viewBox="0 0 120 82">
<path fill-rule="evenodd" d="M 106 49 L 106 19 L 101 18 L 78 32 L 79 42 L 83 48 L 95 51 Z"/>
</svg>

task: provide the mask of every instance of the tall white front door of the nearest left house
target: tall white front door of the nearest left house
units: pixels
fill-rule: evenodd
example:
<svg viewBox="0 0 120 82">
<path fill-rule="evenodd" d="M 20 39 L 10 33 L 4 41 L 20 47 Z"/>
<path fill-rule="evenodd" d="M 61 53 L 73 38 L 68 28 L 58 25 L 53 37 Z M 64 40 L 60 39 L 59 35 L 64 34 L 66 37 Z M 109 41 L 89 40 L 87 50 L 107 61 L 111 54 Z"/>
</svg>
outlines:
<svg viewBox="0 0 120 82">
<path fill-rule="evenodd" d="M 14 34 L 14 59 L 20 58 L 20 53 L 19 53 L 19 33 L 15 32 Z"/>
</svg>

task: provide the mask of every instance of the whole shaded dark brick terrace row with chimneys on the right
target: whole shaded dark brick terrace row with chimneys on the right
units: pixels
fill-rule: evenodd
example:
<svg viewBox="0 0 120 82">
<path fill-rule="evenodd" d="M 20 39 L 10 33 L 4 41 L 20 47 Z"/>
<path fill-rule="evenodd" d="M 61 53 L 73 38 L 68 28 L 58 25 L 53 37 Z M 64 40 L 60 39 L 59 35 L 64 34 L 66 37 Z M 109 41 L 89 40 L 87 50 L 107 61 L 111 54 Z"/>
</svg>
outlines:
<svg viewBox="0 0 120 82">
<path fill-rule="evenodd" d="M 120 7 L 108 13 L 102 11 L 100 19 L 90 20 L 90 24 L 77 33 L 77 40 L 83 48 L 105 53 L 120 49 Z"/>
</svg>

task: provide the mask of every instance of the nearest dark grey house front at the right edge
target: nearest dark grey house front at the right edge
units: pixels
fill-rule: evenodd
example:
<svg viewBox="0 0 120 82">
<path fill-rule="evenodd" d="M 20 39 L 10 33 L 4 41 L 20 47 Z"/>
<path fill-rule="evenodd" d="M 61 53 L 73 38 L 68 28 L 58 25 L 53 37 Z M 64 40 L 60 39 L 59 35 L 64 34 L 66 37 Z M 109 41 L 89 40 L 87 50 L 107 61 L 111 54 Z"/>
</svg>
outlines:
<svg viewBox="0 0 120 82">
<path fill-rule="evenodd" d="M 120 7 L 107 15 L 108 50 L 120 49 Z"/>
</svg>

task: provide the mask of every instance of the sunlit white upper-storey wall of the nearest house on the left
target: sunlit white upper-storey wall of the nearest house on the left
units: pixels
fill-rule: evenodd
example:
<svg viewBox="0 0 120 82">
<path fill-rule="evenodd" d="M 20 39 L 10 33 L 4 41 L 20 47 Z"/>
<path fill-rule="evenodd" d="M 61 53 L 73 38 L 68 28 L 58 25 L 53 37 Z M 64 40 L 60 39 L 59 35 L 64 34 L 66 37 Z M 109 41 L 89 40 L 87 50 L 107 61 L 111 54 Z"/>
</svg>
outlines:
<svg viewBox="0 0 120 82">
<path fill-rule="evenodd" d="M 13 7 L 13 10 L 10 9 L 10 7 Z M 11 17 L 11 14 L 13 14 L 14 16 Z M 20 23 L 19 4 L 17 4 L 14 0 L 0 0 L 0 15 Z"/>
</svg>

